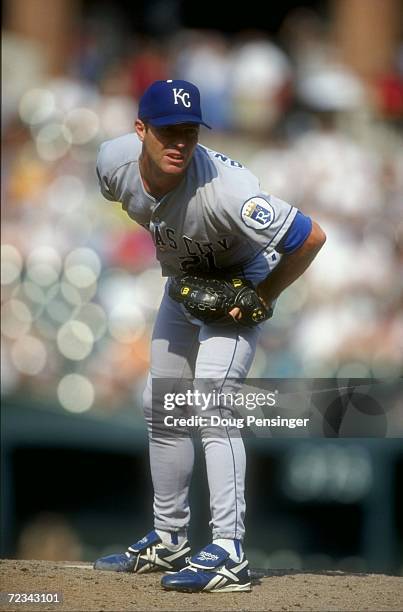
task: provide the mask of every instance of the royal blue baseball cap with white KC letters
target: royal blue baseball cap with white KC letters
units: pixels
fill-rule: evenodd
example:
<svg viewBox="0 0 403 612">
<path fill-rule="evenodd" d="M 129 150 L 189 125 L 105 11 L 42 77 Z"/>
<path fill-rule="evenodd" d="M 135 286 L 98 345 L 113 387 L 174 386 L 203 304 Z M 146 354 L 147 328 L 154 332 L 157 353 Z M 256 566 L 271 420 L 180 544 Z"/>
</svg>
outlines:
<svg viewBox="0 0 403 612">
<path fill-rule="evenodd" d="M 140 99 L 138 116 L 156 127 L 199 123 L 211 129 L 203 121 L 198 88 L 179 79 L 155 81 L 150 85 Z"/>
</svg>

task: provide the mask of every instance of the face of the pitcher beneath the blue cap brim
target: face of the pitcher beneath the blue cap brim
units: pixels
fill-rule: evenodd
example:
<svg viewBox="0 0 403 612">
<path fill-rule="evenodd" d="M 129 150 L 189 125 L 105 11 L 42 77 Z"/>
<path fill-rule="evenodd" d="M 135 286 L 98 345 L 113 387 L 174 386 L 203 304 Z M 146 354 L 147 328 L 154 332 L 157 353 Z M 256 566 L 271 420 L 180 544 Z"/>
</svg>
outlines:
<svg viewBox="0 0 403 612">
<path fill-rule="evenodd" d="M 186 170 L 199 138 L 199 126 L 194 123 L 154 127 L 137 120 L 136 132 L 145 155 L 161 172 L 170 175 Z"/>
</svg>

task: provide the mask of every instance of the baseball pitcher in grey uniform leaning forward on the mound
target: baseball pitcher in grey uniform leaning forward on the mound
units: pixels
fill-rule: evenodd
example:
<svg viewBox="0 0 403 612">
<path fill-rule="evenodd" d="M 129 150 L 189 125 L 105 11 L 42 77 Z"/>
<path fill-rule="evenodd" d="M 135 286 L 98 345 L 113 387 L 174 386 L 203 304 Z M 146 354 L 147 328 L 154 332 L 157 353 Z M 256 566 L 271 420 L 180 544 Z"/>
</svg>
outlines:
<svg viewBox="0 0 403 612">
<path fill-rule="evenodd" d="M 152 383 L 172 380 L 174 389 L 176 381 L 191 377 L 195 383 L 208 379 L 221 391 L 233 384 L 230 381 L 244 380 L 272 305 L 307 269 L 325 236 L 297 208 L 263 192 L 258 179 L 239 162 L 198 144 L 200 125 L 209 127 L 197 87 L 182 80 L 156 81 L 140 100 L 135 133 L 105 142 L 97 160 L 103 195 L 120 202 L 151 233 L 168 280 L 143 396 L 154 530 L 127 552 L 98 559 L 94 567 L 165 572 L 165 589 L 248 591 L 250 573 L 242 545 L 245 450 L 239 430 L 227 425 L 220 435 L 203 436 L 200 427 L 212 541 L 192 556 L 187 527 L 193 438 L 179 426 L 169 436 L 153 435 L 153 411 L 163 398 L 153 394 Z M 197 300 L 199 285 L 197 290 L 182 285 L 179 297 L 173 292 L 173 283 L 182 277 L 190 283 L 229 279 L 244 289 L 246 284 L 247 300 L 228 303 L 225 316 L 216 320 L 202 316 L 194 303 L 192 310 L 185 299 L 180 301 L 189 291 Z"/>
</svg>

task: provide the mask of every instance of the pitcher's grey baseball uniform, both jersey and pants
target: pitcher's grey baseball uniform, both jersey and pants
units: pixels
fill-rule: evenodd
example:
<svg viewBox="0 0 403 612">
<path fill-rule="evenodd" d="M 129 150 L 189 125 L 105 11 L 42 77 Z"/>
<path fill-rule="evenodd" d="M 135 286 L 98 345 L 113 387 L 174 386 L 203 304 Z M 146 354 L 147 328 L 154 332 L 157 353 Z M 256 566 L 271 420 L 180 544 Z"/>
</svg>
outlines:
<svg viewBox="0 0 403 612">
<path fill-rule="evenodd" d="M 258 179 L 222 153 L 198 145 L 180 184 L 161 200 L 148 194 L 139 171 L 141 142 L 128 134 L 101 146 L 97 173 L 103 195 L 122 204 L 150 231 L 164 276 L 185 272 L 242 274 L 257 284 L 278 263 L 274 250 L 297 209 L 261 191 Z M 168 280 L 169 282 L 169 280 Z M 151 431 L 152 379 L 211 379 L 217 390 L 247 376 L 261 326 L 206 325 L 174 302 L 167 290 L 156 320 L 144 413 Z M 229 384 L 229 382 L 228 382 Z M 233 388 L 231 390 L 234 390 Z M 154 394 L 155 395 L 155 394 Z M 213 539 L 244 535 L 245 450 L 238 431 L 203 437 Z M 184 532 L 189 523 L 190 437 L 149 436 L 155 528 Z"/>
</svg>

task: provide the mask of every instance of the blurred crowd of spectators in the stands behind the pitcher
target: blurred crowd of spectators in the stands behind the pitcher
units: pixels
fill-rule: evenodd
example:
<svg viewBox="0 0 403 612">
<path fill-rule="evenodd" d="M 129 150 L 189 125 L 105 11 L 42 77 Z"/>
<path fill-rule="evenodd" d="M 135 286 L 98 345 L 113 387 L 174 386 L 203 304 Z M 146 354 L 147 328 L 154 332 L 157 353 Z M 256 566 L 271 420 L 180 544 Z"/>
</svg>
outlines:
<svg viewBox="0 0 403 612">
<path fill-rule="evenodd" d="M 133 129 L 144 89 L 166 78 L 201 89 L 213 126 L 203 144 L 327 234 L 279 299 L 251 376 L 401 376 L 400 2 L 287 0 L 270 14 L 226 14 L 207 1 L 203 15 L 181 0 L 134 4 L 4 3 L 6 405 L 141 427 L 164 280 L 145 230 L 100 195 L 95 159 L 101 142 Z"/>
</svg>

